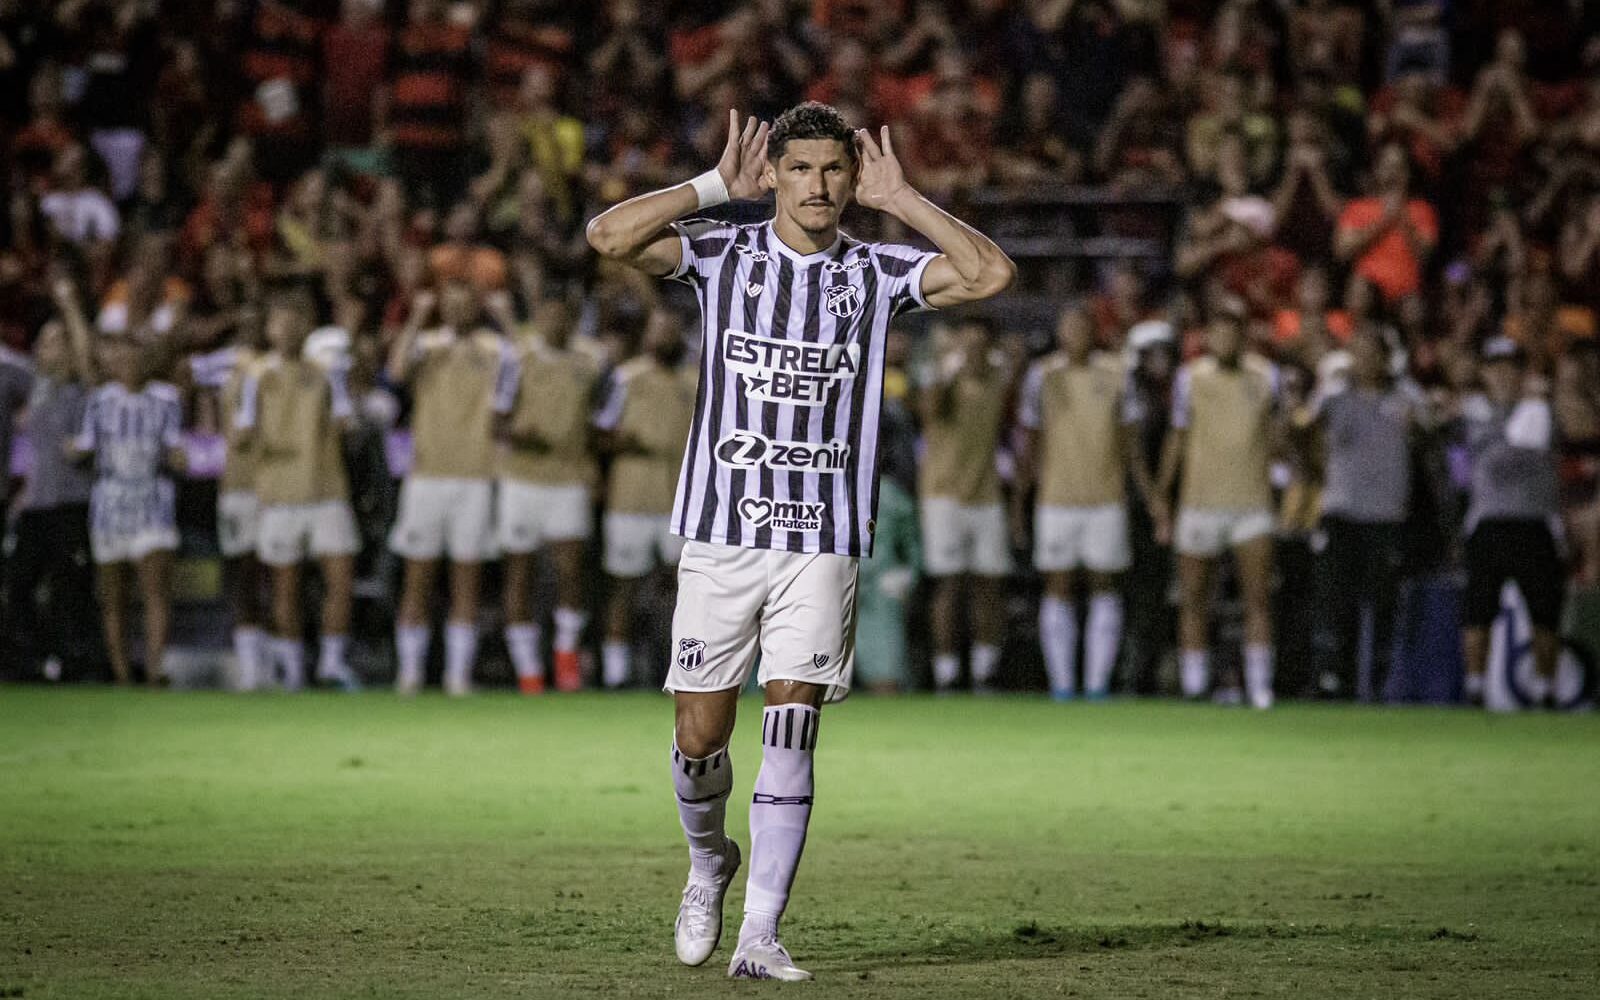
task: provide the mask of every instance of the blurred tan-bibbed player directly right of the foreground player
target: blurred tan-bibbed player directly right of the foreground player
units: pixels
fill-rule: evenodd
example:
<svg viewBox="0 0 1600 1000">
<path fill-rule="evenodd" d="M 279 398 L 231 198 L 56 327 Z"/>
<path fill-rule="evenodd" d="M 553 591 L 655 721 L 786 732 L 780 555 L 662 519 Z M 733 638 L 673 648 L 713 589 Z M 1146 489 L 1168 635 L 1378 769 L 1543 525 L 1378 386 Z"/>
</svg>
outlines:
<svg viewBox="0 0 1600 1000">
<path fill-rule="evenodd" d="M 922 389 L 926 446 L 917 488 L 923 568 L 933 578 L 933 685 L 941 691 L 955 686 L 962 670 L 955 629 L 963 584 L 973 610 L 973 690 L 987 691 L 1000 666 L 1011 533 L 995 450 L 1010 416 L 1011 386 L 1011 368 L 994 350 L 989 322 L 968 317 Z"/>
</svg>

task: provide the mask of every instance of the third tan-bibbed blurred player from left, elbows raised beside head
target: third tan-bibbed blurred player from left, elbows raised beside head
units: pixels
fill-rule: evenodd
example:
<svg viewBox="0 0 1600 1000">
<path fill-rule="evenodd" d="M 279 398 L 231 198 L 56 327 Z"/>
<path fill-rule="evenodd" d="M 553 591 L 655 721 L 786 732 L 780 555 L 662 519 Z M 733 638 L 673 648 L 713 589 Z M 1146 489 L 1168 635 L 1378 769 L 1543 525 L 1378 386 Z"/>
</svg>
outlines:
<svg viewBox="0 0 1600 1000">
<path fill-rule="evenodd" d="M 400 486 L 400 514 L 389 547 L 405 560 L 395 651 L 395 690 L 414 694 L 427 662 L 429 603 L 438 562 L 450 557 L 450 616 L 445 624 L 445 691 L 472 691 L 478 654 L 478 574 L 493 550 L 494 389 L 514 378 L 504 338 L 478 325 L 482 302 L 462 278 L 445 282 L 442 326 L 422 333 L 434 312 L 418 293 L 389 355 L 389 378 L 413 386 L 414 459 Z"/>
</svg>

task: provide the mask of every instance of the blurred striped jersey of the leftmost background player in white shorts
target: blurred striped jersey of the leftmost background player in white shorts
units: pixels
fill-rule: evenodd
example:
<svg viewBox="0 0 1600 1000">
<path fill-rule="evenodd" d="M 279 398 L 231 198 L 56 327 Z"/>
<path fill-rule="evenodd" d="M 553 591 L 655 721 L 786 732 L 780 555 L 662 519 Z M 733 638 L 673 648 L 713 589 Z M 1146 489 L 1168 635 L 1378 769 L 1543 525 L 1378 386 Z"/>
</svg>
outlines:
<svg viewBox="0 0 1600 1000">
<path fill-rule="evenodd" d="M 101 482 L 155 480 L 166 450 L 182 445 L 178 390 L 166 382 L 146 382 L 138 390 L 122 382 L 101 386 L 85 406 L 74 445 L 94 454 Z"/>
</svg>

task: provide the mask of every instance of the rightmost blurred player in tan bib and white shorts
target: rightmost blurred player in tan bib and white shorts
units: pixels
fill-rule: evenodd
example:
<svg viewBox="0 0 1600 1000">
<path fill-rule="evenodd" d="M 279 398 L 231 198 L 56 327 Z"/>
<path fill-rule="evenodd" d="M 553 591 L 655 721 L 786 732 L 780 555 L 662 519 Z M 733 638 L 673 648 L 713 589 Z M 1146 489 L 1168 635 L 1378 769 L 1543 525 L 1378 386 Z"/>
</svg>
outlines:
<svg viewBox="0 0 1600 1000">
<path fill-rule="evenodd" d="M 1158 533 L 1178 550 L 1179 683 L 1200 698 L 1211 683 L 1211 586 L 1216 560 L 1234 552 L 1245 602 L 1245 686 L 1272 707 L 1272 453 L 1278 438 L 1278 373 L 1245 352 L 1243 320 L 1206 326 L 1210 354 L 1184 365 L 1173 386 L 1173 426 L 1157 486 Z M 1165 510 L 1182 467 L 1178 525 Z M 1235 688 L 1237 691 L 1237 688 Z"/>
</svg>

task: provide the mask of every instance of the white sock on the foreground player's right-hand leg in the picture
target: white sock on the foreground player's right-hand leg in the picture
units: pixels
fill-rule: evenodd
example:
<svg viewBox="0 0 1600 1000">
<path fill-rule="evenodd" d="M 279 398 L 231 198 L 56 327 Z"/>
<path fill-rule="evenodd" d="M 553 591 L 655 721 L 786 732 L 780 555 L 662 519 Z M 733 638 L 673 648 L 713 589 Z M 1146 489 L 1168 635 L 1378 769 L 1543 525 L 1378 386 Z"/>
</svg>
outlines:
<svg viewBox="0 0 1600 1000">
<path fill-rule="evenodd" d="M 811 822 L 811 752 L 821 714 L 768 706 L 762 714 L 762 770 L 750 798 L 750 877 L 739 941 L 778 933 Z"/>
</svg>

